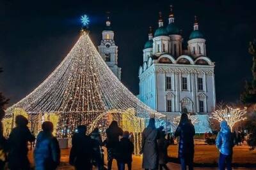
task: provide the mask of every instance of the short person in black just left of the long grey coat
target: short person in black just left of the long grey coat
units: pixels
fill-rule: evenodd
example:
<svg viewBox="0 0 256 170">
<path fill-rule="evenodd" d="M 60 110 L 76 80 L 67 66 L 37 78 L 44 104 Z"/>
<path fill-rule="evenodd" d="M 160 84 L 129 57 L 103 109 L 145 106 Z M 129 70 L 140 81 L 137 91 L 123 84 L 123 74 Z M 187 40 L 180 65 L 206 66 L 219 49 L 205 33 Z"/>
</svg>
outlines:
<svg viewBox="0 0 256 170">
<path fill-rule="evenodd" d="M 129 140 L 129 132 L 125 131 L 123 134 L 123 138 L 118 143 L 118 151 L 117 151 L 117 160 L 119 170 L 125 169 L 125 164 L 127 164 L 128 169 L 132 169 L 132 152 L 134 151 L 134 145 Z"/>
</svg>

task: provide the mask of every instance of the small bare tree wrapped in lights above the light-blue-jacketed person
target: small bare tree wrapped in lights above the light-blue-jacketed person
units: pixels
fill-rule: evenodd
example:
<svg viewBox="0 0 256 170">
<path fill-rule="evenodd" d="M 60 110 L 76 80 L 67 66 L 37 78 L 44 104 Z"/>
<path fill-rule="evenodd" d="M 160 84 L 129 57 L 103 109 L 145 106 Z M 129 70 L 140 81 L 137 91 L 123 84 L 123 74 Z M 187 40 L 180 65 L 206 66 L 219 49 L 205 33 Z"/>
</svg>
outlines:
<svg viewBox="0 0 256 170">
<path fill-rule="evenodd" d="M 226 106 L 225 108 L 220 108 L 214 111 L 211 115 L 211 118 L 221 122 L 222 120 L 226 120 L 229 127 L 232 128 L 241 120 L 245 120 L 246 108 L 241 110 L 240 108 L 232 108 L 231 106 Z"/>
</svg>

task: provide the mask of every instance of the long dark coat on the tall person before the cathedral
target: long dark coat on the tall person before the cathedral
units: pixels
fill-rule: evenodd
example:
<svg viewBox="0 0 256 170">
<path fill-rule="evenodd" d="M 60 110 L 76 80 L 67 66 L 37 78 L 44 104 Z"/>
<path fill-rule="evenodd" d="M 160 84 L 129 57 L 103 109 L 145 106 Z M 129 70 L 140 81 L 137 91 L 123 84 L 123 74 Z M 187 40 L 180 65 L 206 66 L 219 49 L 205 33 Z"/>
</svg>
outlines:
<svg viewBox="0 0 256 170">
<path fill-rule="evenodd" d="M 179 157 L 185 159 L 193 159 L 194 157 L 194 136 L 195 127 L 190 122 L 180 124 L 176 131 L 175 136 L 179 139 Z"/>
</svg>

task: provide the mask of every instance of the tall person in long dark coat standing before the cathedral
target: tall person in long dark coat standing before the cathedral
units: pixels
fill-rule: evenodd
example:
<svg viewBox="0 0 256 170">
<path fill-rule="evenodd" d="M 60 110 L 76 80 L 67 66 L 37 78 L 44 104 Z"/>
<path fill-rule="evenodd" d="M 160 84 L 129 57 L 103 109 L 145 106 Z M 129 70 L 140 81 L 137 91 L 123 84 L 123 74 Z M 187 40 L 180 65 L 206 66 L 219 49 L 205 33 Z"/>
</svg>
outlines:
<svg viewBox="0 0 256 170">
<path fill-rule="evenodd" d="M 189 170 L 193 169 L 194 159 L 194 136 L 195 127 L 188 119 L 187 113 L 182 113 L 180 116 L 180 123 L 175 131 L 175 137 L 179 139 L 179 159 L 181 169 L 185 170 L 188 165 Z"/>
</svg>

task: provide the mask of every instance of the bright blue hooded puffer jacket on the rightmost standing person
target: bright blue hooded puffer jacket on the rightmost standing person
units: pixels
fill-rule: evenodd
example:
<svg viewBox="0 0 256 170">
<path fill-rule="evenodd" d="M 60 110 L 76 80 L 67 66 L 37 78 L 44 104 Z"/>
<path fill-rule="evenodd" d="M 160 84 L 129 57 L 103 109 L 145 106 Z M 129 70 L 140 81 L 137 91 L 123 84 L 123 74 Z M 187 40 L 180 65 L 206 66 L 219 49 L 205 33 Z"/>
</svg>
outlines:
<svg viewBox="0 0 256 170">
<path fill-rule="evenodd" d="M 234 140 L 230 127 L 225 120 L 220 123 L 220 127 L 221 130 L 216 138 L 216 146 L 223 155 L 231 155 L 232 148 L 234 147 Z"/>
</svg>

